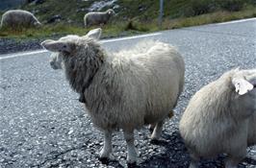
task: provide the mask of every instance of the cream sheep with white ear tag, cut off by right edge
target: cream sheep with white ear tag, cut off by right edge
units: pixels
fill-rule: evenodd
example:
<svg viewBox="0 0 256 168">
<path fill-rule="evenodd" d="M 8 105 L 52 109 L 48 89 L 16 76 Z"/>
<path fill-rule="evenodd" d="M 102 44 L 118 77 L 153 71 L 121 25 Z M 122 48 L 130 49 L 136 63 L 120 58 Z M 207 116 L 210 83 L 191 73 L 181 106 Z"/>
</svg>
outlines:
<svg viewBox="0 0 256 168">
<path fill-rule="evenodd" d="M 256 144 L 256 69 L 233 69 L 197 91 L 182 115 L 179 129 L 191 156 L 227 154 L 234 168 Z"/>
</svg>

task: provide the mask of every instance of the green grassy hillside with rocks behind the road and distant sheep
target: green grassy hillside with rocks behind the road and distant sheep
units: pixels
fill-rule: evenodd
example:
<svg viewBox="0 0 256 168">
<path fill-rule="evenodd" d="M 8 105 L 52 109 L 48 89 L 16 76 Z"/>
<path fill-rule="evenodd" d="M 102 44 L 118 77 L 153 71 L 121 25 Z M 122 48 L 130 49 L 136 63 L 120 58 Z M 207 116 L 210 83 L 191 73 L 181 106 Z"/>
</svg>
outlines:
<svg viewBox="0 0 256 168">
<path fill-rule="evenodd" d="M 103 26 L 105 36 L 127 36 L 256 16 L 255 0 L 165 0 L 164 22 L 159 28 L 159 0 L 109 1 L 114 3 L 100 11 L 112 8 L 117 14 L 108 25 Z M 99 1 L 45 0 L 41 4 L 22 6 L 20 9 L 35 13 L 44 26 L 39 30 L 2 30 L 0 36 L 83 35 L 88 31 L 84 28 L 83 17 L 96 2 Z M 54 16 L 58 18 L 56 21 L 52 21 Z"/>
</svg>

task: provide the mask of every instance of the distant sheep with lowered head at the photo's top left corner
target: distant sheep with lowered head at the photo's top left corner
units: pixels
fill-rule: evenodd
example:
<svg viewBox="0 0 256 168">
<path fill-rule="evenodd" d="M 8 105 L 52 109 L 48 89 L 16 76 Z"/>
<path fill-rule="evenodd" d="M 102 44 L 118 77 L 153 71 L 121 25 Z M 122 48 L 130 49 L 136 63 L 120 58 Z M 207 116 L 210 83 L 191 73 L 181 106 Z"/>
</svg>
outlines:
<svg viewBox="0 0 256 168">
<path fill-rule="evenodd" d="M 10 10 L 2 15 L 1 28 L 21 28 L 21 27 L 38 27 L 40 22 L 37 17 L 27 11 Z"/>
</svg>

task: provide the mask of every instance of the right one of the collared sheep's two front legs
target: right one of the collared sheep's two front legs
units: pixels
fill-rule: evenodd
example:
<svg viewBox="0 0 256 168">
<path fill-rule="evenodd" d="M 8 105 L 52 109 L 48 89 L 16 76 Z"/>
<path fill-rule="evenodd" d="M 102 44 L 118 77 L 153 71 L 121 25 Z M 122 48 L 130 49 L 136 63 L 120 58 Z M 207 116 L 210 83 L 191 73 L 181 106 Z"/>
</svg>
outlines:
<svg viewBox="0 0 256 168">
<path fill-rule="evenodd" d="M 134 132 L 123 131 L 124 139 L 127 144 L 127 162 L 128 163 L 136 163 L 137 161 L 137 152 L 134 145 Z"/>
</svg>

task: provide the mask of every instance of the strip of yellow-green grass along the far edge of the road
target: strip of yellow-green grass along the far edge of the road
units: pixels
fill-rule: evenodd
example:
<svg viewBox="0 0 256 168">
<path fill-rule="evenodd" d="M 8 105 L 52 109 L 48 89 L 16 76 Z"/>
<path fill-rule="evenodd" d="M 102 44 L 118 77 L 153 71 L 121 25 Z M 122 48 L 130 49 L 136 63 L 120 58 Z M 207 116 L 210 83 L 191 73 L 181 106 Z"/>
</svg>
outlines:
<svg viewBox="0 0 256 168">
<path fill-rule="evenodd" d="M 133 1 L 134 2 L 134 1 Z M 136 2 L 134 2 L 136 3 Z M 181 4 L 178 4 L 181 5 Z M 201 15 L 195 15 L 191 17 L 170 18 L 165 17 L 162 27 L 158 26 L 157 18 L 147 20 L 133 18 L 127 21 L 117 20 L 112 21 L 102 27 L 103 37 L 115 37 L 115 36 L 130 36 L 142 33 L 150 33 L 166 29 L 177 29 L 188 26 L 197 26 L 209 23 L 217 23 L 223 21 L 229 21 L 234 19 L 242 19 L 248 17 L 256 17 L 256 7 L 247 6 L 239 12 L 218 11 L 211 13 L 204 13 Z M 0 30 L 0 37 L 14 38 L 16 40 L 33 39 L 33 38 L 50 38 L 60 37 L 65 35 L 86 35 L 91 29 L 97 26 L 85 29 L 81 25 L 76 24 L 48 24 L 38 29 L 23 29 L 23 30 Z"/>
</svg>

